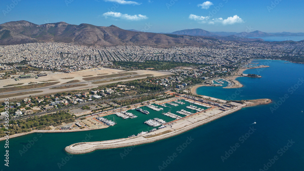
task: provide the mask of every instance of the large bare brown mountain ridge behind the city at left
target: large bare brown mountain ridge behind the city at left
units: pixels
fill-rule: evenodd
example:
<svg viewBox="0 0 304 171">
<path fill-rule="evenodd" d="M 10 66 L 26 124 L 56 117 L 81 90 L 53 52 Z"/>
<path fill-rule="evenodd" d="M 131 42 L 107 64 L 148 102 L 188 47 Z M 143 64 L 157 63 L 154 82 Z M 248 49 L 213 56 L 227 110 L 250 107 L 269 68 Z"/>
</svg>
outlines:
<svg viewBox="0 0 304 171">
<path fill-rule="evenodd" d="M 151 32 L 136 32 L 117 26 L 71 25 L 66 22 L 37 25 L 28 21 L 0 24 L 0 45 L 63 42 L 86 46 L 147 45 L 147 46 L 202 46 L 177 36 Z"/>
</svg>

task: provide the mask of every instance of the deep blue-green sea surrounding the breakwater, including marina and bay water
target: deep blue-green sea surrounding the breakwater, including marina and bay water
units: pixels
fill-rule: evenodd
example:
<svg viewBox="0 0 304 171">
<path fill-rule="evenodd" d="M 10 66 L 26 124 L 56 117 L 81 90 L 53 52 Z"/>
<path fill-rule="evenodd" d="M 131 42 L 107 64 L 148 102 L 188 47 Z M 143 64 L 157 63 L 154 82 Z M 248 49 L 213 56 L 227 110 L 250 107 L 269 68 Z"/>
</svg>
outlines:
<svg viewBox="0 0 304 171">
<path fill-rule="evenodd" d="M 123 120 L 115 117 L 118 124 L 106 129 L 71 133 L 33 133 L 16 137 L 9 141 L 9 167 L 4 166 L 3 161 L 5 142 L 0 142 L 2 157 L 0 170 L 258 171 L 263 169 L 264 164 L 265 166 L 268 164 L 271 165 L 265 168 L 268 171 L 302 171 L 304 114 L 301 111 L 304 108 L 304 84 L 301 84 L 299 79 L 304 76 L 304 65 L 285 62 L 260 60 L 260 64 L 270 67 L 246 70 L 244 72 L 246 74 L 260 74 L 262 77 L 237 78 L 244 85 L 240 89 L 200 87 L 197 90 L 199 94 L 222 99 L 270 98 L 274 101 L 272 104 L 243 108 L 159 142 L 126 149 L 98 150 L 83 155 L 69 156 L 64 152 L 64 148 L 76 142 L 123 138 L 145 129 L 152 129 L 141 122 L 147 118 L 158 117 L 166 121 L 173 119 L 170 120 L 147 108 L 150 111 L 149 115 L 132 111 L 138 116 L 137 118 Z M 288 98 L 284 100 L 282 97 L 287 97 L 286 94 Z M 275 104 L 280 105 L 275 106 Z M 182 106 L 178 107 L 182 108 Z M 271 107 L 278 108 L 271 112 Z M 167 110 L 164 108 L 164 112 Z M 138 124 L 136 119 L 142 124 Z M 254 121 L 257 123 L 252 124 Z M 254 132 L 250 131 L 250 127 Z M 33 143 L 33 140 L 36 142 Z M 293 145 L 288 144 L 288 140 L 292 140 Z M 238 147 L 234 147 L 236 143 L 239 143 Z M 287 149 L 286 145 L 290 147 Z M 26 149 L 24 146 L 29 148 Z M 234 151 L 230 150 L 230 146 Z M 285 150 L 284 146 L 286 146 Z M 278 151 L 281 148 L 284 152 Z M 226 155 L 223 162 L 221 156 L 225 157 L 225 152 L 232 153 L 230 156 Z M 273 164 L 268 163 L 269 159 L 273 159 L 271 160 Z"/>
</svg>

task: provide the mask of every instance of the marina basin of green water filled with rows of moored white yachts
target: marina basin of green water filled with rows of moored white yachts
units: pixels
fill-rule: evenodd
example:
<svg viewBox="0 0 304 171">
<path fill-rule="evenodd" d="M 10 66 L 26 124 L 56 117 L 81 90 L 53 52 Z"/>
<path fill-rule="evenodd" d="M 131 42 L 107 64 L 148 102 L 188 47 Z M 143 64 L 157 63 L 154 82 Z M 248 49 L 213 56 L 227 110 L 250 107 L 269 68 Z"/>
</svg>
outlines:
<svg viewBox="0 0 304 171">
<path fill-rule="evenodd" d="M 129 110 L 130 112 L 128 110 L 116 111 L 115 113 L 112 113 L 111 115 L 106 115 L 106 116 L 102 116 L 102 117 L 107 120 L 111 120 L 111 118 L 113 118 L 113 114 L 114 114 L 115 117 L 122 118 L 121 121 L 123 123 L 121 123 L 119 121 L 119 125 L 121 125 L 121 124 L 124 125 L 124 124 L 126 124 L 125 122 L 131 121 L 131 120 L 127 120 L 127 118 L 133 118 L 133 119 L 136 118 L 136 119 L 134 119 L 134 122 L 133 121 L 130 122 L 130 124 L 133 123 L 132 127 L 141 128 L 142 130 L 149 131 L 150 129 L 145 128 L 144 126 L 142 126 L 142 124 L 146 125 L 146 126 L 151 126 L 151 127 L 160 127 L 164 124 L 171 123 L 174 120 L 186 118 L 186 117 L 192 116 L 194 114 L 197 114 L 199 112 L 203 112 L 203 111 L 207 110 L 208 108 L 211 108 L 211 106 L 207 105 L 207 103 L 216 104 L 212 101 L 206 101 L 203 99 L 201 99 L 202 102 L 199 102 L 199 101 L 197 101 L 198 98 L 193 99 L 193 101 L 192 101 L 192 100 L 190 100 L 189 97 L 196 98 L 196 97 L 192 97 L 192 96 L 188 96 L 188 98 L 175 97 L 175 99 L 173 99 L 171 101 L 167 101 L 162 104 L 147 103 L 146 105 L 143 105 L 140 107 L 131 108 L 132 110 Z M 172 102 L 174 102 L 174 103 L 172 103 Z M 166 106 L 165 105 L 166 103 L 173 105 L 173 107 Z M 189 104 L 191 104 L 191 105 L 189 105 Z M 169 108 L 167 108 L 167 110 L 165 111 L 164 107 L 169 107 Z M 133 109 L 135 109 L 135 110 L 133 110 Z M 146 115 L 139 115 L 139 113 L 143 113 Z M 145 119 L 145 120 L 143 120 L 143 119 Z M 100 121 L 100 118 L 98 120 Z M 126 121 L 123 121 L 123 120 L 126 120 Z M 106 125 L 107 125 L 107 123 L 109 125 L 114 124 L 114 123 L 111 124 L 111 122 L 109 122 L 109 121 L 105 122 Z M 140 123 L 142 123 L 142 124 L 140 124 Z M 163 128 L 163 127 L 161 127 L 161 128 Z M 126 129 L 129 129 L 129 128 L 126 128 Z M 136 132 L 136 131 L 131 132 L 131 133 L 133 133 L 133 135 L 138 134 L 138 132 Z"/>
</svg>

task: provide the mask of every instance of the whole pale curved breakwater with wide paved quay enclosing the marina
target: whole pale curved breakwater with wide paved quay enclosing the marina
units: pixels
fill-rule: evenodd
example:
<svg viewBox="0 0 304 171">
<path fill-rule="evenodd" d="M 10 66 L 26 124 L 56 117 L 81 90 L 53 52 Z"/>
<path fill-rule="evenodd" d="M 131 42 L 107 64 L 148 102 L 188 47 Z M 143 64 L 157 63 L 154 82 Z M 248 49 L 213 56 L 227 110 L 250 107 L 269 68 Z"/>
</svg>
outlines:
<svg viewBox="0 0 304 171">
<path fill-rule="evenodd" d="M 128 138 L 98 141 L 98 142 L 79 142 L 67 146 L 64 150 L 71 154 L 84 154 L 93 152 L 99 149 L 113 149 L 113 148 L 123 148 L 134 145 L 142 145 L 146 143 L 156 142 L 162 139 L 167 139 L 183 132 L 189 131 L 193 128 L 206 124 L 210 121 L 214 121 L 223 116 L 229 115 L 235 111 L 240 110 L 243 107 L 255 106 L 260 104 L 271 103 L 270 99 L 257 99 L 249 100 L 244 104 L 239 106 L 234 106 L 226 111 L 219 110 L 220 107 L 212 106 L 212 108 L 207 109 L 207 113 L 198 112 L 196 114 L 179 117 L 174 121 L 168 122 L 165 125 L 159 127 L 159 129 L 153 132 L 143 132 L 140 135 L 132 136 Z M 213 109 L 212 111 L 210 109 Z M 171 113 L 167 113 L 172 115 Z M 174 114 L 173 114 L 174 115 Z M 154 118 L 156 119 L 156 118 Z M 153 120 L 152 120 L 153 121 Z M 154 120 L 155 121 L 155 120 Z M 160 129 L 162 128 L 162 129 Z"/>
</svg>

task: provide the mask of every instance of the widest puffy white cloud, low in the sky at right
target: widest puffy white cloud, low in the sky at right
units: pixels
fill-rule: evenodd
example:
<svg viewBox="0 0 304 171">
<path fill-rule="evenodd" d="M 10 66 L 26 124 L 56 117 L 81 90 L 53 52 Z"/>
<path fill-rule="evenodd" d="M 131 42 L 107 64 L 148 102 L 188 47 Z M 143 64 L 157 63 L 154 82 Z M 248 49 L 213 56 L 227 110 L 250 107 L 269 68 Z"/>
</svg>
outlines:
<svg viewBox="0 0 304 171">
<path fill-rule="evenodd" d="M 199 21 L 199 23 L 208 23 L 208 24 L 216 24 L 216 23 L 221 23 L 223 25 L 232 25 L 235 23 L 243 23 L 244 20 L 241 19 L 239 16 L 234 15 L 233 17 L 228 17 L 227 19 L 223 18 L 216 18 L 216 19 L 210 19 L 209 16 L 198 16 L 194 14 L 189 15 L 189 19 L 192 19 L 194 21 Z"/>
</svg>

